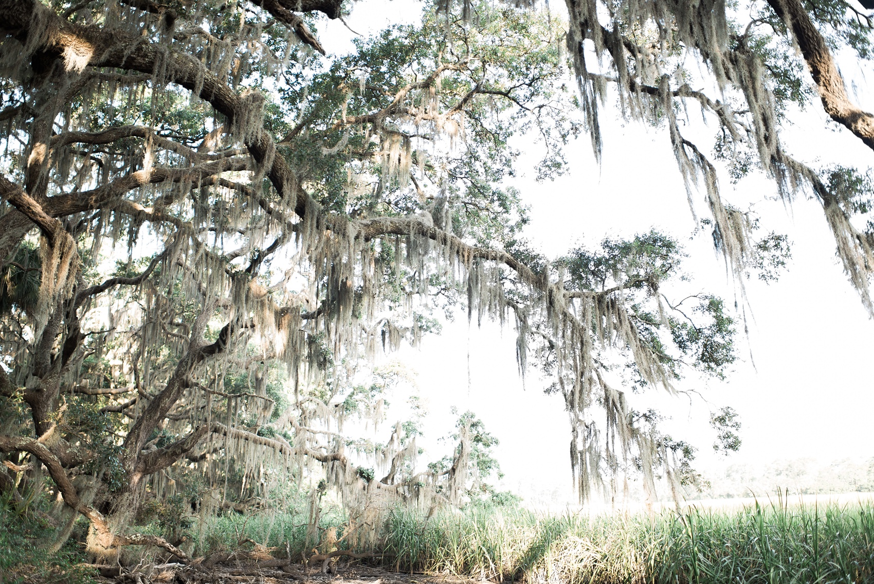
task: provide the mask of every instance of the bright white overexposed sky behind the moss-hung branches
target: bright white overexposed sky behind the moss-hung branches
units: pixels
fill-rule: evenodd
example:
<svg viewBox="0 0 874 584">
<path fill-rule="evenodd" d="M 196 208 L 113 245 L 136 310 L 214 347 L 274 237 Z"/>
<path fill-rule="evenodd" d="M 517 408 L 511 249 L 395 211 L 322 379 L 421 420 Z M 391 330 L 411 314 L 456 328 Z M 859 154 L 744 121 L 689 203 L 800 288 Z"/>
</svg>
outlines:
<svg viewBox="0 0 874 584">
<path fill-rule="evenodd" d="M 364 0 L 355 4 L 350 27 L 365 35 L 387 24 L 412 23 L 419 4 L 399 0 Z M 351 49 L 351 34 L 343 24 L 330 22 L 319 34 L 329 53 Z M 846 67 L 845 67 L 846 68 Z M 874 101 L 858 94 L 859 105 L 871 111 Z M 816 165 L 840 162 L 867 168 L 871 150 L 833 125 L 818 103 L 793 115 L 794 127 L 784 130 L 783 143 L 801 160 Z M 666 132 L 645 129 L 615 119 L 610 104 L 602 110 L 603 163 L 594 163 L 589 140 L 572 144 L 572 170 L 554 183 L 533 180 L 538 152 L 520 163 L 524 173 L 516 186 L 531 205 L 528 236 L 554 257 L 576 243 L 592 246 L 605 235 L 630 236 L 657 227 L 686 242 L 686 265 L 694 282 L 690 292 L 708 291 L 733 299 L 732 282 L 714 255 L 709 236 L 690 240 L 694 229 L 685 191 L 670 151 Z M 706 151 L 715 128 L 690 139 Z M 742 346 L 739 362 L 725 382 L 681 388 L 700 391 L 701 398 L 673 398 L 662 410 L 673 416 L 670 431 L 700 448 L 700 468 L 716 472 L 737 462 L 814 457 L 822 460 L 874 456 L 874 355 L 872 323 L 843 275 L 834 254 L 834 240 L 815 202 L 799 199 L 791 208 L 773 198 L 773 185 L 748 178 L 732 189 L 723 181 L 726 201 L 755 209 L 766 231 L 788 233 L 794 260 L 780 282 L 749 282 L 753 309 L 749 351 Z M 697 194 L 702 204 L 703 193 Z M 420 350 L 400 351 L 396 357 L 419 374 L 419 389 L 429 403 L 426 446 L 432 455 L 442 449 L 435 439 L 446 435 L 453 416 L 450 407 L 471 409 L 500 440 L 496 450 L 506 478 L 504 486 L 533 497 L 557 490 L 571 501 L 571 470 L 567 450 L 569 427 L 563 400 L 546 396 L 542 379 L 530 377 L 525 387 L 517 375 L 515 335 L 496 324 L 474 325 L 466 319 L 449 324 L 440 337 L 427 337 Z M 469 355 L 469 386 L 468 386 Z M 744 424 L 744 445 L 732 457 L 710 454 L 713 435 L 707 426 L 710 409 L 731 405 Z M 437 457 L 437 456 L 435 456 Z"/>
</svg>

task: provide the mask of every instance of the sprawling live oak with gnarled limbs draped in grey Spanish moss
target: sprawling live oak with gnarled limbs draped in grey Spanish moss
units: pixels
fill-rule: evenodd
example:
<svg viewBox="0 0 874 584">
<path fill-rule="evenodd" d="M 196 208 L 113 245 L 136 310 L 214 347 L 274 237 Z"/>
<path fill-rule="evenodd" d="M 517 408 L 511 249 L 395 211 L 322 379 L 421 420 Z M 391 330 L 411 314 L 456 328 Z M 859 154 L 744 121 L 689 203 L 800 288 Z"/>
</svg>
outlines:
<svg viewBox="0 0 874 584">
<path fill-rule="evenodd" d="M 725 303 L 662 293 L 683 251 L 661 233 L 551 262 L 522 237 L 513 136 L 540 139 L 548 179 L 573 163 L 572 136 L 600 152 L 607 95 L 667 126 L 741 288 L 751 270 L 773 277 L 787 240 L 723 202 L 715 163 L 758 167 L 787 199 L 808 187 L 871 311 L 871 228 L 853 223 L 867 178 L 811 170 L 778 136 L 787 104 L 810 99 L 808 66 L 829 115 L 874 145 L 832 57 L 867 56 L 864 16 L 773 0 L 735 21 L 724 3 L 592 0 L 568 2 L 565 27 L 517 4 L 436 3 L 419 26 L 327 59 L 317 25 L 352 5 L 0 0 L 0 450 L 18 469 L 0 488 L 17 493 L 27 456 L 20 480 L 45 467 L 67 506 L 55 546 L 80 513 L 95 552 L 150 544 L 187 560 L 131 526 L 177 479 L 215 511 L 323 476 L 312 525 L 328 488 L 357 525 L 381 501 L 458 504 L 479 480 L 475 419 L 418 474 L 413 421 L 386 444 L 350 439 L 343 421 L 381 419 L 397 379 L 362 381 L 368 364 L 459 303 L 517 330 L 522 372 L 555 380 L 582 497 L 615 492 L 623 472 L 649 491 L 659 474 L 694 481 L 690 446 L 611 379 L 676 391 L 689 372 L 724 375 Z M 711 94 L 690 86 L 702 72 Z M 691 104 L 718 122 L 715 163 L 680 131 Z"/>
</svg>

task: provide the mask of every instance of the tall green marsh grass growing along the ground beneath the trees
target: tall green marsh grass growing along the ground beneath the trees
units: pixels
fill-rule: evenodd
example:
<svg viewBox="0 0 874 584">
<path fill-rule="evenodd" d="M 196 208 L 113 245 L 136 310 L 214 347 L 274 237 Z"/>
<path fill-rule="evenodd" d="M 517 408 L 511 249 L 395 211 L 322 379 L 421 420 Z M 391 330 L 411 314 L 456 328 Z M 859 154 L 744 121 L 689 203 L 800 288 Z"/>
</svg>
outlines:
<svg viewBox="0 0 874 584">
<path fill-rule="evenodd" d="M 340 512 L 322 532 L 342 533 Z M 202 553 L 253 539 L 298 557 L 306 518 L 215 518 Z M 874 582 L 874 504 L 791 504 L 778 497 L 735 511 L 588 518 L 518 508 L 424 513 L 396 509 L 371 551 L 387 568 L 474 579 L 607 582 Z M 288 552 L 287 552 L 288 551 Z"/>
</svg>

